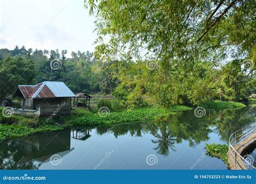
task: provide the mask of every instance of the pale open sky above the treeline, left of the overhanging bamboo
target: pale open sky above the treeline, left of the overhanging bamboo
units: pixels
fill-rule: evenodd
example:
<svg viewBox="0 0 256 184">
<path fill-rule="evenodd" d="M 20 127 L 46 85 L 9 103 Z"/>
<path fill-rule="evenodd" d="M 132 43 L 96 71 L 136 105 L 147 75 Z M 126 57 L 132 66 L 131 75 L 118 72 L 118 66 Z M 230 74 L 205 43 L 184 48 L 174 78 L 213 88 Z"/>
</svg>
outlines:
<svg viewBox="0 0 256 184">
<path fill-rule="evenodd" d="M 93 52 L 95 18 L 84 0 L 0 0 L 0 48 Z"/>
</svg>

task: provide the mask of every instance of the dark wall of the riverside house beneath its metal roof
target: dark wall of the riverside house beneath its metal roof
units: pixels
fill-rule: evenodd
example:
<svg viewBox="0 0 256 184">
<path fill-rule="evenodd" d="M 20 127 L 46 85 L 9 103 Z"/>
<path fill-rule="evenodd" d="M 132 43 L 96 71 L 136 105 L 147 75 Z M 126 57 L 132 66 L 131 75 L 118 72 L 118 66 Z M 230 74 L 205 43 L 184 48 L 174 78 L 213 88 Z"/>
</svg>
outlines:
<svg viewBox="0 0 256 184">
<path fill-rule="evenodd" d="M 34 99 L 34 107 L 40 108 L 40 116 L 70 116 L 71 97 Z M 53 115 L 52 115 L 53 116 Z"/>
</svg>

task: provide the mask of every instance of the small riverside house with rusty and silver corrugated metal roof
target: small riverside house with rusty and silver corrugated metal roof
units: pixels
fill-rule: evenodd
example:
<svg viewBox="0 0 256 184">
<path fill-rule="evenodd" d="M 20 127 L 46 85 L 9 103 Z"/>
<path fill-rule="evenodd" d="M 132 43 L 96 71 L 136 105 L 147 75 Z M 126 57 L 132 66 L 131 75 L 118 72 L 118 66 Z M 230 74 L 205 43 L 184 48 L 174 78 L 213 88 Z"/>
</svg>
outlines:
<svg viewBox="0 0 256 184">
<path fill-rule="evenodd" d="M 36 85 L 18 85 L 12 97 L 21 98 L 22 116 L 70 116 L 71 97 L 75 94 L 64 82 L 45 81 Z"/>
</svg>

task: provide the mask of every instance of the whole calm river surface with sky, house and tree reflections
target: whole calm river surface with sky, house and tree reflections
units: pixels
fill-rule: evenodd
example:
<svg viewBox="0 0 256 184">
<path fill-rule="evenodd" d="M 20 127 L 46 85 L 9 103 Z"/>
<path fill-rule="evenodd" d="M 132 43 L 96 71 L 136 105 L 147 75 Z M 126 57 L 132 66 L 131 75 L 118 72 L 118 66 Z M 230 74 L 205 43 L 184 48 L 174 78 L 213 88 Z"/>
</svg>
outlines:
<svg viewBox="0 0 256 184">
<path fill-rule="evenodd" d="M 193 111 L 185 111 L 165 123 L 134 122 L 37 133 L 0 143 L 0 167 L 227 169 L 223 161 L 205 154 L 205 143 L 226 144 L 232 132 L 255 121 L 255 114 L 255 108 L 206 110 L 206 115 L 198 118 Z"/>
</svg>

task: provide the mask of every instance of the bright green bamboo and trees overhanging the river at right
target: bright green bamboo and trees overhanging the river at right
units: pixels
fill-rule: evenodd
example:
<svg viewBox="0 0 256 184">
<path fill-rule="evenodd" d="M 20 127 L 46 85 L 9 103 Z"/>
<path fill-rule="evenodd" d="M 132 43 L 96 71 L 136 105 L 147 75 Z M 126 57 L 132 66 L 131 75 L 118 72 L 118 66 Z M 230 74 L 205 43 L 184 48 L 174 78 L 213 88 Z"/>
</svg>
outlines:
<svg viewBox="0 0 256 184">
<path fill-rule="evenodd" d="M 144 95 L 168 106 L 247 101 L 255 93 L 253 1 L 88 0 L 85 6 L 97 12 L 96 58 L 120 60 L 112 65 L 120 81 L 114 94 L 128 107 Z"/>
</svg>

